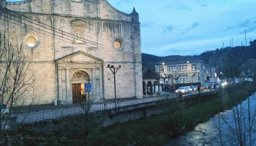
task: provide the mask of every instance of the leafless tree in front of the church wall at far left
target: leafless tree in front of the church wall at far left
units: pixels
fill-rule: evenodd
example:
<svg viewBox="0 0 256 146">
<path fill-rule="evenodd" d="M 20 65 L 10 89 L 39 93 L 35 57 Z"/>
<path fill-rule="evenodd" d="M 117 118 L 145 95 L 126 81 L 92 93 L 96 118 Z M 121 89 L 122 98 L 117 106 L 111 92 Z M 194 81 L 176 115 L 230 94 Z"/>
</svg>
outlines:
<svg viewBox="0 0 256 146">
<path fill-rule="evenodd" d="M 29 55 L 21 45 L 11 45 L 5 37 L 1 37 L 0 32 L 0 104 L 10 107 L 9 113 L 0 113 L 0 145 L 8 137 L 4 129 L 10 120 L 12 108 L 23 105 L 29 96 L 31 102 L 34 101 L 35 75 L 30 64 Z"/>
</svg>

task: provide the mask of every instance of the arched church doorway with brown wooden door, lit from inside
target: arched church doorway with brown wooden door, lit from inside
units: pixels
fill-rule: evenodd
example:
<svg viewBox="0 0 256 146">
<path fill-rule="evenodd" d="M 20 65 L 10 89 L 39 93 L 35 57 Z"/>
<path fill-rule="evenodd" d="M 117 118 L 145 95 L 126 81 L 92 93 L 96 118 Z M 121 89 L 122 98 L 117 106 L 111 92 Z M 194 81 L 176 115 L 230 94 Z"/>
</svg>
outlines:
<svg viewBox="0 0 256 146">
<path fill-rule="evenodd" d="M 89 82 L 89 74 L 83 71 L 75 72 L 71 78 L 72 84 L 72 103 L 82 103 L 86 101 L 84 84 Z"/>
</svg>

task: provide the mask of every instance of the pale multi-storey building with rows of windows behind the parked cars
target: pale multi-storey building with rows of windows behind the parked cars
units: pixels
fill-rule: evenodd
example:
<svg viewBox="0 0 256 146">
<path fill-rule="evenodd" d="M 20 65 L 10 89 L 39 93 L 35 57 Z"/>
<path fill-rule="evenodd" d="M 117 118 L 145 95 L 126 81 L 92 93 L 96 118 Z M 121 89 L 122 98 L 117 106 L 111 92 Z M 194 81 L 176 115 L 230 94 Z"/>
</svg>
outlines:
<svg viewBox="0 0 256 146">
<path fill-rule="evenodd" d="M 180 56 L 155 64 L 156 74 L 159 77 L 159 84 L 176 85 L 181 83 L 211 82 L 214 77 L 214 68 L 205 64 L 204 61 L 196 58 Z"/>
</svg>

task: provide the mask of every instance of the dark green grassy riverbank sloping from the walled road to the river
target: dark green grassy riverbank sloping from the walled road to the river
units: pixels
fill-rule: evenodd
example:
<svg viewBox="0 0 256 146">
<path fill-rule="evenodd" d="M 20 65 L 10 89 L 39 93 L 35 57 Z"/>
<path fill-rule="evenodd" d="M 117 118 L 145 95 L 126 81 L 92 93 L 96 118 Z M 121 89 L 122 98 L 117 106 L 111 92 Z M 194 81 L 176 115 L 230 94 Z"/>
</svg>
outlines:
<svg viewBox="0 0 256 146">
<path fill-rule="evenodd" d="M 249 89 L 249 90 L 247 90 Z M 224 88 L 218 96 L 199 100 L 165 101 L 158 104 L 165 114 L 151 115 L 102 127 L 101 118 L 84 115 L 42 121 L 12 131 L 19 145 L 159 146 L 192 131 L 219 112 L 230 109 L 255 92 L 255 85 Z"/>
</svg>

